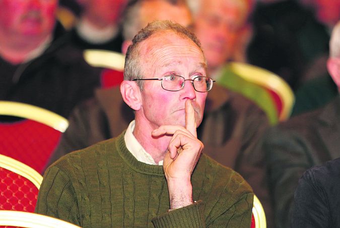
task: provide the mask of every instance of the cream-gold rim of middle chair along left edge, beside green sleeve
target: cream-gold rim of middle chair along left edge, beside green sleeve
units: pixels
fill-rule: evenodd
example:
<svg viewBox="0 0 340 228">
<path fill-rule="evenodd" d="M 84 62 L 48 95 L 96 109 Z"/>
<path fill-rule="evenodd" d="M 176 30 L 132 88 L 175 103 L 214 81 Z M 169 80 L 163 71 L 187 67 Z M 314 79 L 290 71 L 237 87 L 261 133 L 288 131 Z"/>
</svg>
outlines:
<svg viewBox="0 0 340 228">
<path fill-rule="evenodd" d="M 38 189 L 40 188 L 40 185 L 42 182 L 42 176 L 30 166 L 16 159 L 0 154 L 0 167 L 6 168 L 16 174 L 19 174 L 20 176 L 24 178 L 27 178 Z"/>
</svg>

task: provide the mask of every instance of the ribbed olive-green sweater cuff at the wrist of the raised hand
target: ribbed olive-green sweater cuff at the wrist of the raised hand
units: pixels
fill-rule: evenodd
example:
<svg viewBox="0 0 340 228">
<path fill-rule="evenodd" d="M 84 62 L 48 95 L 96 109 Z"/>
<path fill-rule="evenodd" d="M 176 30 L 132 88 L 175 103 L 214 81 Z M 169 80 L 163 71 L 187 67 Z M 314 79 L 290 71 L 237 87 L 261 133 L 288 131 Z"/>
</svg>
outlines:
<svg viewBox="0 0 340 228">
<path fill-rule="evenodd" d="M 155 227 L 205 227 L 204 205 L 201 200 L 152 219 Z"/>
</svg>

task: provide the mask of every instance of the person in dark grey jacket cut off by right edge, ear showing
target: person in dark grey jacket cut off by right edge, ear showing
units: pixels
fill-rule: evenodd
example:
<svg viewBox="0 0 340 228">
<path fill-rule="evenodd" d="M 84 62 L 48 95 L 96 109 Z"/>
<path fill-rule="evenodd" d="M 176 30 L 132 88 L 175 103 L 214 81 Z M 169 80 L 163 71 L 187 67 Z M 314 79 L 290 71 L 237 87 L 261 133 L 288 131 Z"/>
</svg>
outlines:
<svg viewBox="0 0 340 228">
<path fill-rule="evenodd" d="M 339 91 L 340 22 L 332 31 L 329 49 L 327 69 Z M 275 227 L 290 226 L 294 191 L 303 173 L 314 165 L 340 156 L 339 116 L 340 96 L 337 93 L 324 107 L 293 117 L 264 135 L 263 150 Z"/>
</svg>

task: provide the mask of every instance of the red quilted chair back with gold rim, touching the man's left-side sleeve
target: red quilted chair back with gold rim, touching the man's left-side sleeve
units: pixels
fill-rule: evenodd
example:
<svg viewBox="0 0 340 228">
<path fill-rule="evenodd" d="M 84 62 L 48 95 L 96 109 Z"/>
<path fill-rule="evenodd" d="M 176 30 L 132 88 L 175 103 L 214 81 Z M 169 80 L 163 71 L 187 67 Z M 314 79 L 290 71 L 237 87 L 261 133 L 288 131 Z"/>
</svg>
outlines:
<svg viewBox="0 0 340 228">
<path fill-rule="evenodd" d="M 33 212 L 41 182 L 36 170 L 0 154 L 0 210 Z"/>
</svg>

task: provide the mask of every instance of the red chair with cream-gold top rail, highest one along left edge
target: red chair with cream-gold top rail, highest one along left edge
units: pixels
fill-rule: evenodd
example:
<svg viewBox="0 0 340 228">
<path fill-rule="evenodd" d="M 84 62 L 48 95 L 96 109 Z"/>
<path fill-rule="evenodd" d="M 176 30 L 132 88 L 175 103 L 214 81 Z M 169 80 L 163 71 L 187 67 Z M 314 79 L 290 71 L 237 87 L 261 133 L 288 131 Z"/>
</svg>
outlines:
<svg viewBox="0 0 340 228">
<path fill-rule="evenodd" d="M 0 120 L 0 153 L 41 173 L 68 121 L 49 110 L 12 101 L 0 101 L 0 115 L 23 118 Z"/>
</svg>

